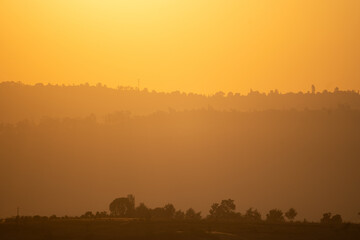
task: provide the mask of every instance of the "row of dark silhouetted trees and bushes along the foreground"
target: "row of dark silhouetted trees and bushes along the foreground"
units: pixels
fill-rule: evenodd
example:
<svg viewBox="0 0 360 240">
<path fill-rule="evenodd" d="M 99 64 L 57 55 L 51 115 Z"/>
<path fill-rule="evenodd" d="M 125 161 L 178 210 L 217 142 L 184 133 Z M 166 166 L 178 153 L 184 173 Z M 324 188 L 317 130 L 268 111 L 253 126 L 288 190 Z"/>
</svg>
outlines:
<svg viewBox="0 0 360 240">
<path fill-rule="evenodd" d="M 164 207 L 157 207 L 154 209 L 148 208 L 144 203 L 140 203 L 135 207 L 135 197 L 128 195 L 126 198 L 117 198 L 109 205 L 110 214 L 106 211 L 96 212 L 93 214 L 91 211 L 85 212 L 80 217 L 57 217 L 52 215 L 46 216 L 17 216 L 16 218 L 6 218 L 3 222 L 26 222 L 26 221 L 48 221 L 56 219 L 77 219 L 77 218 L 108 218 L 108 217 L 120 217 L 120 218 L 137 218 L 144 220 L 160 220 L 160 221 L 199 221 L 202 219 L 201 212 L 196 212 L 193 208 L 189 208 L 185 212 L 182 210 L 176 210 L 171 203 L 166 204 Z M 262 222 L 261 214 L 257 209 L 249 208 L 244 215 L 240 212 L 236 212 L 236 205 L 234 200 L 225 199 L 219 203 L 211 205 L 209 210 L 208 220 L 236 220 L 244 222 Z M 293 222 L 297 216 L 297 211 L 294 208 L 290 208 L 283 213 L 279 209 L 271 209 L 266 214 L 266 222 L 269 223 L 284 223 L 285 218 L 289 222 Z M 358 214 L 360 215 L 360 213 Z M 1 220 L 1 219 L 0 219 Z M 1 221 L 0 221 L 1 222 Z M 332 215 L 331 213 L 324 213 L 320 219 L 320 223 L 328 225 L 341 224 L 343 222 L 341 215 Z M 306 220 L 304 220 L 306 223 Z"/>
</svg>

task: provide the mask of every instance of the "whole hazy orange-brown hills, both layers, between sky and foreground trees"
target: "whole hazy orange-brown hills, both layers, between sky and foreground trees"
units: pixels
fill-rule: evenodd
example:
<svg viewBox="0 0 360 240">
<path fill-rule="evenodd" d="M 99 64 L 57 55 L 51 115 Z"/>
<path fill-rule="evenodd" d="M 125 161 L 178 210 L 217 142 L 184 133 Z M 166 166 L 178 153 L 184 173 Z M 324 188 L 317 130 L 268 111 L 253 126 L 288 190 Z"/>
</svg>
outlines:
<svg viewBox="0 0 360 240">
<path fill-rule="evenodd" d="M 150 207 L 294 207 L 357 221 L 360 95 L 247 96 L 0 84 L 0 217 Z"/>
</svg>

